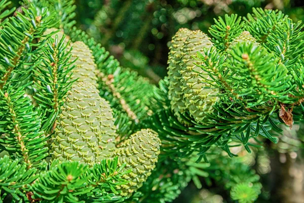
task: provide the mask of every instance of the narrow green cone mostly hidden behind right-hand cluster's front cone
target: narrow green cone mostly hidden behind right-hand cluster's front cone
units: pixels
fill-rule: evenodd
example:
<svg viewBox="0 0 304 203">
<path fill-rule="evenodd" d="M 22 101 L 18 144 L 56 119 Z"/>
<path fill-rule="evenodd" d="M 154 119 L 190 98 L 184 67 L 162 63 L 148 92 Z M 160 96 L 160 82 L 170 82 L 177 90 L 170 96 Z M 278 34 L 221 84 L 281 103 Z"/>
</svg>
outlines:
<svg viewBox="0 0 304 203">
<path fill-rule="evenodd" d="M 183 113 L 186 107 L 183 102 L 183 92 L 180 88 L 181 86 L 181 74 L 180 64 L 181 64 L 181 53 L 183 49 L 184 41 L 187 36 L 191 33 L 191 30 L 187 28 L 180 28 L 172 38 L 171 46 L 169 47 L 170 52 L 168 56 L 168 79 L 169 79 L 169 98 L 171 99 L 171 109 L 175 116 L 184 123 L 182 119 L 179 118 L 178 114 Z M 184 123 L 186 124 L 186 123 Z"/>
</svg>

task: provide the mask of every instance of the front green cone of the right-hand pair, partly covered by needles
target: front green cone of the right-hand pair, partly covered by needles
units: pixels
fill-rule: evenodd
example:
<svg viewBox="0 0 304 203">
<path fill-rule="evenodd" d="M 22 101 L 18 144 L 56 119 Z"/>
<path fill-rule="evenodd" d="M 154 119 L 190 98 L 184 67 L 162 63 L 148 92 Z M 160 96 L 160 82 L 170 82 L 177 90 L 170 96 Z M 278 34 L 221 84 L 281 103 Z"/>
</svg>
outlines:
<svg viewBox="0 0 304 203">
<path fill-rule="evenodd" d="M 182 65 L 181 65 L 181 83 L 184 92 L 184 103 L 193 118 L 200 122 L 204 119 L 206 113 L 213 112 L 213 105 L 218 100 L 217 89 L 212 89 L 212 85 L 205 83 L 204 80 L 211 80 L 209 75 L 204 72 L 200 64 L 192 55 L 197 52 L 203 54 L 204 48 L 211 48 L 212 42 L 208 36 L 201 30 L 192 31 L 184 43 Z M 200 73 L 201 75 L 199 75 Z"/>
</svg>

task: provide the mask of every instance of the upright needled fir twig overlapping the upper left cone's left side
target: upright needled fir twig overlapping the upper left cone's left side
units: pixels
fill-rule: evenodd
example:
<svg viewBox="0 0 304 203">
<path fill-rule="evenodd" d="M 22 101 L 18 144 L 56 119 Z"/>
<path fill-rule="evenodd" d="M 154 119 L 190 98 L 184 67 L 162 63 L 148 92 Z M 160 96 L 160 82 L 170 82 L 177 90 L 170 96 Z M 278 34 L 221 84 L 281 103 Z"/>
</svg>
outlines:
<svg viewBox="0 0 304 203">
<path fill-rule="evenodd" d="M 52 132 L 56 125 L 56 118 L 51 115 L 58 115 L 63 98 L 72 85 L 73 80 L 69 81 L 68 74 L 74 68 L 72 65 L 74 61 L 69 62 L 70 50 L 67 49 L 68 44 L 65 43 L 64 36 L 59 38 L 58 35 L 52 35 L 52 32 L 47 36 L 52 38 L 47 40 L 41 56 L 37 57 L 42 58 L 42 62 L 34 70 L 34 88 L 37 93 L 33 97 L 38 105 L 44 108 L 47 121 L 52 123 L 53 127 L 46 129 L 48 133 L 49 130 Z"/>
</svg>

